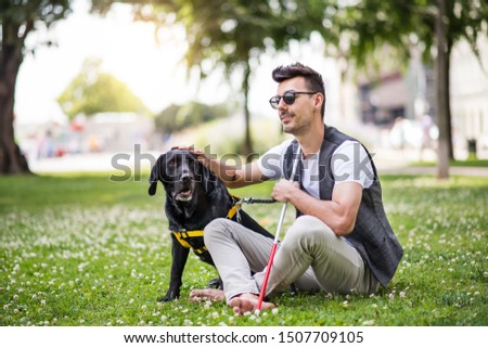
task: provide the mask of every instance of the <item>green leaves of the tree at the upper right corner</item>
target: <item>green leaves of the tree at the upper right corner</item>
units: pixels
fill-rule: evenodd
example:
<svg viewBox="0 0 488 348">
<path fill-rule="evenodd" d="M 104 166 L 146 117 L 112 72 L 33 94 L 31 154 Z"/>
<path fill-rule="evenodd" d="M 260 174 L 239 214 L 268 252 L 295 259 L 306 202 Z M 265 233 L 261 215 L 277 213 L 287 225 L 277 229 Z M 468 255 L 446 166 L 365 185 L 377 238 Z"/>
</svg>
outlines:
<svg viewBox="0 0 488 348">
<path fill-rule="evenodd" d="M 442 21 L 447 26 L 448 53 L 455 42 L 465 39 L 479 56 L 477 40 L 478 36 L 487 33 L 488 3 L 480 0 L 445 2 Z M 359 67 L 367 68 L 375 53 L 385 46 L 394 49 L 391 53 L 402 63 L 408 62 L 412 47 L 422 51 L 424 62 L 434 63 L 438 13 L 437 1 L 361 0 L 354 5 L 337 8 L 329 20 L 334 21 L 335 30 L 346 39 L 349 59 Z"/>
</svg>

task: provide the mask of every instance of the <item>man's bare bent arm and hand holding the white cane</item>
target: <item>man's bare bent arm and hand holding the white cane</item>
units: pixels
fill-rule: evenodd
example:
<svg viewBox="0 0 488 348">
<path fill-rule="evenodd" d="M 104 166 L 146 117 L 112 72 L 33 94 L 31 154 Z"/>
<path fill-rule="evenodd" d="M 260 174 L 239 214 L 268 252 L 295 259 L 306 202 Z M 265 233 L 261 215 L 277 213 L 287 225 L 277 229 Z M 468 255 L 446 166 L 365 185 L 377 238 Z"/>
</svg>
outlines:
<svg viewBox="0 0 488 348">
<path fill-rule="evenodd" d="M 297 183 L 280 180 L 271 196 L 290 202 L 305 215 L 322 220 L 337 235 L 349 234 L 356 224 L 362 186 L 357 182 L 342 182 L 334 186 L 331 201 L 321 201 L 299 189 Z"/>
</svg>

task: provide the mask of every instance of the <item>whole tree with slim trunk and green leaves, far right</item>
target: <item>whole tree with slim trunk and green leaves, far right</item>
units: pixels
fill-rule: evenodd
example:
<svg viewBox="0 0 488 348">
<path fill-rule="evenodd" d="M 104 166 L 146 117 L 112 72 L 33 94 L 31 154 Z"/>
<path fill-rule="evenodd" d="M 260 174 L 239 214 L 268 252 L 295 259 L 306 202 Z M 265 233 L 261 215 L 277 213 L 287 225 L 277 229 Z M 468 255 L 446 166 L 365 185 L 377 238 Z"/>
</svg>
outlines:
<svg viewBox="0 0 488 348">
<path fill-rule="evenodd" d="M 479 57 L 478 35 L 486 35 L 488 3 L 479 0 L 362 0 L 326 12 L 334 28 L 347 39 L 350 57 L 359 67 L 370 64 L 385 46 L 406 63 L 410 49 L 423 50 L 424 62 L 436 70 L 436 118 L 439 127 L 439 178 L 449 176 L 452 158 L 449 68 L 453 46 L 465 39 Z M 333 28 L 333 29 L 334 29 Z M 435 52 L 435 54 L 433 54 Z"/>
</svg>

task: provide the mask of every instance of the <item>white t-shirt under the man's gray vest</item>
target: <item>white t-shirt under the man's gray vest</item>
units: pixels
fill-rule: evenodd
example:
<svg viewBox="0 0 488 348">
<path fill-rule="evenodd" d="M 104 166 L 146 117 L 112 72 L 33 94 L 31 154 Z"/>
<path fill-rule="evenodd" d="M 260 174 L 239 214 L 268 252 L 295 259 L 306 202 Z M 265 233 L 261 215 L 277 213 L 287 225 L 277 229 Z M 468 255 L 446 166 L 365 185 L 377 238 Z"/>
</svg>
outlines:
<svg viewBox="0 0 488 348">
<path fill-rule="evenodd" d="M 257 164 L 261 173 L 269 179 L 281 179 L 283 175 L 283 158 L 292 140 L 270 149 L 259 157 Z M 307 192 L 320 198 L 319 159 L 320 151 L 307 159 L 301 159 L 301 184 Z M 331 170 L 335 184 L 357 182 L 363 189 L 374 182 L 374 171 L 364 147 L 357 141 L 346 140 L 332 154 Z"/>
</svg>

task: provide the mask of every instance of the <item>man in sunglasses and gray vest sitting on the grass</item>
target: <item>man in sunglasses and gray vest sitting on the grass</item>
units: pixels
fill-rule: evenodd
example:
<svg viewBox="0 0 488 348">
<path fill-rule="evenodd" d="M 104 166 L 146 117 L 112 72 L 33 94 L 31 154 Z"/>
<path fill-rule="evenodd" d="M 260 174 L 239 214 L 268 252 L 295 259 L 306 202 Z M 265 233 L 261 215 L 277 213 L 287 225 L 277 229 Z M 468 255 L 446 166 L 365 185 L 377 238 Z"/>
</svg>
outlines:
<svg viewBox="0 0 488 348">
<path fill-rule="evenodd" d="M 386 218 L 371 156 L 357 140 L 324 125 L 320 74 L 296 63 L 275 68 L 272 77 L 279 85 L 270 104 L 293 141 L 240 168 L 193 152 L 229 188 L 277 179 L 271 196 L 297 209 L 275 254 L 267 296 L 291 284 L 297 291 L 373 294 L 391 280 L 403 252 Z M 290 178 L 298 158 L 297 175 Z M 206 227 L 205 244 L 223 292 L 194 289 L 192 300 L 226 299 L 239 314 L 256 309 L 272 241 L 244 229 L 228 219 Z M 261 310 L 272 307 L 265 301 Z"/>
</svg>

